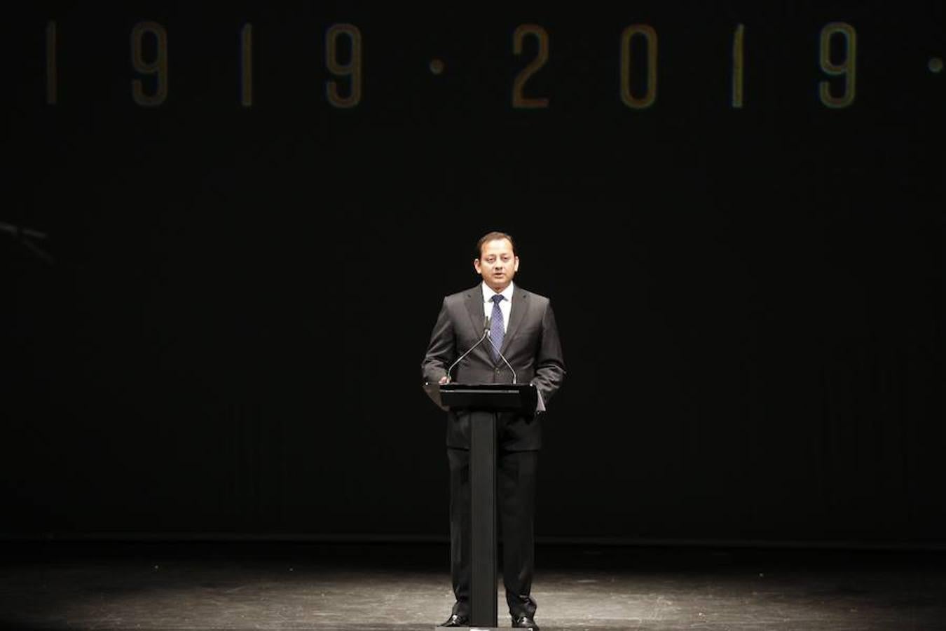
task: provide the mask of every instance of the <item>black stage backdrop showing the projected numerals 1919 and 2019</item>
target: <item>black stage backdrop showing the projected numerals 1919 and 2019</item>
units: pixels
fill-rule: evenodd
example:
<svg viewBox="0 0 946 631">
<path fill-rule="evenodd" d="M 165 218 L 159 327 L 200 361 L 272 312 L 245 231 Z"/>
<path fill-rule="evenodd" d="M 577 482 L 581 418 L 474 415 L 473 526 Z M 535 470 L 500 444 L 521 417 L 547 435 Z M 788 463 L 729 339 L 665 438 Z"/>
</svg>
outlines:
<svg viewBox="0 0 946 631">
<path fill-rule="evenodd" d="M 499 229 L 538 535 L 944 542 L 939 0 L 22 10 L 3 533 L 446 536 L 420 361 Z"/>
</svg>

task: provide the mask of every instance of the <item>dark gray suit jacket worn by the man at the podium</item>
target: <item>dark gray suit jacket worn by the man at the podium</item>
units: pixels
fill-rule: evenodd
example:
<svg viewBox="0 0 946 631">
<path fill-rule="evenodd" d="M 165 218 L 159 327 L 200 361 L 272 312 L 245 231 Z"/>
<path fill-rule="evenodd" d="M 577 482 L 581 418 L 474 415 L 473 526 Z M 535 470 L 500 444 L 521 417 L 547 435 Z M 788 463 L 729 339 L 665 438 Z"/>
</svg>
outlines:
<svg viewBox="0 0 946 631">
<path fill-rule="evenodd" d="M 424 380 L 436 383 L 447 375 L 450 364 L 482 338 L 484 322 L 482 285 L 444 298 L 421 363 Z M 509 367 L 502 359 L 493 360 L 489 343 L 483 341 L 457 364 L 450 373 L 452 381 L 512 383 Z M 515 287 L 500 351 L 516 371 L 517 382 L 534 383 L 548 405 L 565 378 L 562 346 L 548 298 Z M 539 417 L 502 413 L 497 438 L 499 448 L 507 451 L 538 449 L 542 446 Z M 447 412 L 447 447 L 469 448 L 469 418 L 465 412 Z"/>
</svg>

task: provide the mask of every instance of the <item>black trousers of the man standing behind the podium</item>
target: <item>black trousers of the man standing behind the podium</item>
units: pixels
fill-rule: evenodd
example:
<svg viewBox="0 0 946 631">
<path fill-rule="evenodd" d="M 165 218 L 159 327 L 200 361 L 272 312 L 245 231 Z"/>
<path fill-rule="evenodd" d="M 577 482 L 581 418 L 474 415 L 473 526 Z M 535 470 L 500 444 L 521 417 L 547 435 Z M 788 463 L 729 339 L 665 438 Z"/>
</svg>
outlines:
<svg viewBox="0 0 946 631">
<path fill-rule="evenodd" d="M 470 613 L 470 452 L 447 448 L 450 464 L 450 575 L 457 602 L 453 613 Z M 538 451 L 497 453 L 499 547 L 502 551 L 502 583 L 506 587 L 509 613 L 535 615 L 531 595 L 535 570 L 534 518 L 535 473 Z"/>
</svg>

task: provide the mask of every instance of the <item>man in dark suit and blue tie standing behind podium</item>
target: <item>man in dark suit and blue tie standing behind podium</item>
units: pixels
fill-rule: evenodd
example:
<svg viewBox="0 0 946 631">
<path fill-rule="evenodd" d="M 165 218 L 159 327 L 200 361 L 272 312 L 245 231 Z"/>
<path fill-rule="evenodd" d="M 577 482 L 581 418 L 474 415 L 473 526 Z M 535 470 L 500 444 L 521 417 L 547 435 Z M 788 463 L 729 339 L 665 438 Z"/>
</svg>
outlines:
<svg viewBox="0 0 946 631">
<path fill-rule="evenodd" d="M 513 284 L 519 258 L 513 237 L 491 232 L 477 244 L 473 268 L 482 283 L 444 299 L 421 364 L 429 383 L 534 384 L 534 414 L 503 412 L 497 420 L 497 507 L 502 534 L 502 579 L 513 626 L 533 628 L 535 601 L 533 520 L 535 474 L 542 427 L 539 412 L 565 377 L 565 363 L 549 299 Z M 483 336 L 490 336 L 447 375 L 447 369 Z M 501 355 L 500 355 L 501 354 Z M 504 360 L 504 359 L 505 360 Z M 509 362 L 507 365 L 506 362 Z M 512 371 L 510 370 L 512 368 Z M 469 417 L 447 412 L 447 461 L 450 465 L 450 573 L 456 604 L 441 626 L 468 626 L 470 599 Z"/>
</svg>

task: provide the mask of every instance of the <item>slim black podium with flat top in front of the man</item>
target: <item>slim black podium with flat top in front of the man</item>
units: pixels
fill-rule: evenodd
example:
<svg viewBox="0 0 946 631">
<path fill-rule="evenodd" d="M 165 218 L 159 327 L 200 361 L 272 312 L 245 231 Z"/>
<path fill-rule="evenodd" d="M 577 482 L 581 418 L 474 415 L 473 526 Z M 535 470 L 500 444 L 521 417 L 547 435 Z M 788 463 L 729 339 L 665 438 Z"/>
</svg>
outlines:
<svg viewBox="0 0 946 631">
<path fill-rule="evenodd" d="M 498 628 L 496 607 L 496 414 L 535 412 L 532 384 L 429 383 L 429 397 L 443 410 L 470 412 L 471 540 L 470 626 Z"/>
</svg>

